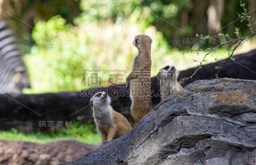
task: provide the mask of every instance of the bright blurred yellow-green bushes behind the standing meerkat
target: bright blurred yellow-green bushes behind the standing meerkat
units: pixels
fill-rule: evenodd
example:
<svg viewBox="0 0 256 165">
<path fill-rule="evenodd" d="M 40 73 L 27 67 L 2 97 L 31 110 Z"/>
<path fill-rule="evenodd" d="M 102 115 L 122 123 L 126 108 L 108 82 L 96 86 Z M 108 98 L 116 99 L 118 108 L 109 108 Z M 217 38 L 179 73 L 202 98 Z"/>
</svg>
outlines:
<svg viewBox="0 0 256 165">
<path fill-rule="evenodd" d="M 129 6 L 125 5 L 124 7 Z M 131 5 L 130 5 L 131 7 Z M 150 11 L 147 8 L 147 11 Z M 106 86 L 109 76 L 108 69 L 127 70 L 129 74 L 137 49 L 132 45 L 134 36 L 147 34 L 153 39 L 152 70 L 157 73 L 161 62 L 170 58 L 169 45 L 163 34 L 154 26 L 144 24 L 152 17 L 150 13 L 137 7 L 129 18 L 118 15 L 116 22 L 110 18 L 95 19 L 89 23 L 91 16 L 82 14 L 75 19 L 78 26 L 67 25 L 59 15 L 48 21 L 36 23 L 32 38 L 36 44 L 31 48 L 25 63 L 28 66 L 32 90 L 26 93 L 77 91 L 93 88 L 81 84 L 83 69 L 101 69 L 102 86 Z M 88 18 L 87 18 L 88 17 Z M 38 32 L 37 32 L 38 31 Z M 63 43 L 58 43 L 62 39 Z M 71 39 L 71 44 L 66 44 Z M 129 44 L 129 45 L 127 45 Z M 169 56 L 169 57 L 168 57 Z M 153 72 L 153 73 L 154 73 Z M 42 76 L 43 75 L 43 76 Z"/>
</svg>

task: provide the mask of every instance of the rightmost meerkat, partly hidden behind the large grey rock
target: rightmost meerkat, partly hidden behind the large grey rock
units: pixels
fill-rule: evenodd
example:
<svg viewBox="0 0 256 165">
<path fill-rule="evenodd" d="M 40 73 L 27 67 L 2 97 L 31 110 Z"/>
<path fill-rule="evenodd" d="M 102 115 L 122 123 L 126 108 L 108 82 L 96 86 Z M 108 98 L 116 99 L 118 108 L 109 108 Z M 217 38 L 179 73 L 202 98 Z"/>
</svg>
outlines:
<svg viewBox="0 0 256 165">
<path fill-rule="evenodd" d="M 161 101 L 183 90 L 182 86 L 177 82 L 178 76 L 179 72 L 174 66 L 167 65 L 159 70 L 157 77 L 160 83 Z"/>
</svg>

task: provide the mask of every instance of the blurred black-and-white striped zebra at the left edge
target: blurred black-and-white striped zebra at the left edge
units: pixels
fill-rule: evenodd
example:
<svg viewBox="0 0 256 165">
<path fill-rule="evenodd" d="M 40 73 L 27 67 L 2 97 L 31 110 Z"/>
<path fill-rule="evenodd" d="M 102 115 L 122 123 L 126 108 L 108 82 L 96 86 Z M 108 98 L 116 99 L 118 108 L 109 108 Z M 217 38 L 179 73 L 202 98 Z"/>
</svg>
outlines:
<svg viewBox="0 0 256 165">
<path fill-rule="evenodd" d="M 21 94 L 30 88 L 17 39 L 6 21 L 0 20 L 0 94 Z"/>
</svg>

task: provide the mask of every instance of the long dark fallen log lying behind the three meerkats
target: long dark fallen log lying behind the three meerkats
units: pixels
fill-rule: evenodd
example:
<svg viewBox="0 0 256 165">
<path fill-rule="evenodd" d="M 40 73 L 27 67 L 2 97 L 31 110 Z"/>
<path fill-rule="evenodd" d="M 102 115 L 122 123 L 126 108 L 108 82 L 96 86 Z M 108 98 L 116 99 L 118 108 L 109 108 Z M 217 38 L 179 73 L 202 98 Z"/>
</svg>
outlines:
<svg viewBox="0 0 256 165">
<path fill-rule="evenodd" d="M 229 60 L 222 68 L 219 77 L 239 78 L 256 80 L 256 50 L 234 56 L 235 61 Z M 175 64 L 173 64 L 175 65 Z M 186 86 L 196 80 L 214 79 L 217 69 L 222 62 L 211 63 L 202 66 L 195 76 L 185 81 L 182 86 Z M 159 68 L 161 68 L 160 66 Z M 181 71 L 182 77 L 188 77 L 194 73 L 196 68 Z M 152 107 L 160 102 L 159 84 L 157 77 L 151 78 Z M 14 127 L 24 132 L 47 131 L 48 122 L 62 121 L 63 127 L 66 122 L 80 121 L 82 123 L 92 122 L 92 109 L 89 105 L 90 98 L 98 91 L 106 91 L 111 95 L 113 108 L 123 114 L 134 126 L 134 120 L 130 114 L 131 101 L 129 91 L 125 90 L 125 85 L 109 86 L 81 92 L 44 93 L 36 95 L 19 95 L 11 97 L 0 95 L 0 130 L 9 130 Z M 46 126 L 40 126 L 44 121 Z"/>
</svg>

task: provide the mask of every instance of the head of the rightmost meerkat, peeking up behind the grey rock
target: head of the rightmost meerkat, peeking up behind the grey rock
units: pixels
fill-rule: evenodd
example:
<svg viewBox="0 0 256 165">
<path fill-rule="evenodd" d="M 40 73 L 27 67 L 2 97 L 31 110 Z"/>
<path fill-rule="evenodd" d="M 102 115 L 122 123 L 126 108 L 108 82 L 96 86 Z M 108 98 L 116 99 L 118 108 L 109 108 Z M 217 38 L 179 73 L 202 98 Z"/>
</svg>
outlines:
<svg viewBox="0 0 256 165">
<path fill-rule="evenodd" d="M 161 68 L 157 74 L 158 80 L 160 83 L 173 83 L 177 81 L 179 76 L 179 72 L 176 70 L 174 66 L 166 65 Z"/>
</svg>

